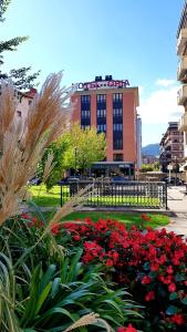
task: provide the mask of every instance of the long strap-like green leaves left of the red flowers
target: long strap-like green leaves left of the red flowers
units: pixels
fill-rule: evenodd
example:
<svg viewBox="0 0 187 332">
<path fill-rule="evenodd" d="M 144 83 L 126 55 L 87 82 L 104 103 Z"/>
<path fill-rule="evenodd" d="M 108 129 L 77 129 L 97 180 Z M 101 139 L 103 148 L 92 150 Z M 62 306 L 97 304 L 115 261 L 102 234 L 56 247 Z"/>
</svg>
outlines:
<svg viewBox="0 0 187 332">
<path fill-rule="evenodd" d="M 142 319 L 128 292 L 102 279 L 100 264 L 85 268 L 80 248 L 56 256 L 55 239 L 41 238 L 43 230 L 27 218 L 0 229 L 0 331 L 62 332 L 91 312 L 114 328 Z"/>
</svg>

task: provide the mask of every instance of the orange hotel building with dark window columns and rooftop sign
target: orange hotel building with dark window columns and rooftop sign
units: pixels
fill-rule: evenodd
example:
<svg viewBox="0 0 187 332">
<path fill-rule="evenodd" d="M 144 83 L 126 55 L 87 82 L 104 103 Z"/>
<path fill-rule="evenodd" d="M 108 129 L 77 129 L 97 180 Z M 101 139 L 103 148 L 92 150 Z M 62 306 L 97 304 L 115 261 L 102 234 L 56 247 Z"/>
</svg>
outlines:
<svg viewBox="0 0 187 332">
<path fill-rule="evenodd" d="M 106 160 L 94 163 L 94 169 L 120 168 L 134 175 L 139 160 L 141 136 L 137 131 L 139 105 L 138 87 L 129 87 L 127 80 L 116 81 L 111 75 L 95 81 L 74 84 L 73 122 L 82 128 L 95 127 L 106 135 Z"/>
</svg>

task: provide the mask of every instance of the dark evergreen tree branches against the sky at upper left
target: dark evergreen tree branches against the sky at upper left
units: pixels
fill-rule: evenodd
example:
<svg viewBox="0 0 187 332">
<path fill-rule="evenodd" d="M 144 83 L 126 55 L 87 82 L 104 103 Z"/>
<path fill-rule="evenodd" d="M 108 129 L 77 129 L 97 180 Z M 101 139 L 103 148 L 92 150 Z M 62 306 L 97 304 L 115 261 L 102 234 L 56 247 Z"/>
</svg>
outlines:
<svg viewBox="0 0 187 332">
<path fill-rule="evenodd" d="M 0 0 L 0 22 L 4 21 L 4 13 L 10 4 L 11 0 Z M 29 37 L 15 37 L 8 41 L 0 41 L 0 65 L 3 65 L 4 60 L 2 53 L 4 51 L 17 51 L 22 42 L 27 41 Z M 9 73 L 0 71 L 0 79 L 11 79 L 13 84 L 19 90 L 25 90 L 33 87 L 33 81 L 38 77 L 39 72 L 30 74 L 31 66 L 12 69 Z"/>
</svg>

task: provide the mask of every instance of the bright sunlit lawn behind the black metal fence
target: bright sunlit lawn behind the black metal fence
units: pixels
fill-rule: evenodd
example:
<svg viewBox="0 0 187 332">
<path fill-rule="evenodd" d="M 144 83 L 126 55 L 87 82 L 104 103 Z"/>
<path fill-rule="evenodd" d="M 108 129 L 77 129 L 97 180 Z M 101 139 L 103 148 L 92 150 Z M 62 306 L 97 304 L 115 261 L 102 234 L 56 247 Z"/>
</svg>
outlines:
<svg viewBox="0 0 187 332">
<path fill-rule="evenodd" d="M 61 188 L 60 186 L 54 186 L 49 193 L 46 193 L 45 186 L 32 186 L 30 187 L 29 191 L 32 194 L 32 199 L 38 206 L 42 207 L 55 207 L 60 206 L 61 204 Z M 69 189 L 66 187 L 63 187 L 63 193 L 66 194 L 65 200 L 69 199 Z M 101 197 L 92 197 L 89 199 L 90 203 L 98 203 L 100 206 L 115 206 L 115 205 L 124 205 L 127 204 L 128 206 L 147 206 L 147 207 L 159 207 L 159 199 L 158 198 L 150 198 L 146 196 L 101 196 Z"/>
</svg>

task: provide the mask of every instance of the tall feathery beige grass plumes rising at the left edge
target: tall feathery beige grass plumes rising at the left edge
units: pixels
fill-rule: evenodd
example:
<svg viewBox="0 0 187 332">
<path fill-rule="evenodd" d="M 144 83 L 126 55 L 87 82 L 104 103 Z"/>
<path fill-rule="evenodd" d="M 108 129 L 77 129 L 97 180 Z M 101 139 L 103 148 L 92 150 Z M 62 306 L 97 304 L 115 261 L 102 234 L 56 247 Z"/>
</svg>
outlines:
<svg viewBox="0 0 187 332">
<path fill-rule="evenodd" d="M 28 180 L 45 147 L 70 128 L 70 93 L 60 87 L 62 73 L 51 74 L 30 105 L 25 121 L 15 115 L 14 90 L 1 84 L 0 225 L 15 214 Z"/>
</svg>

